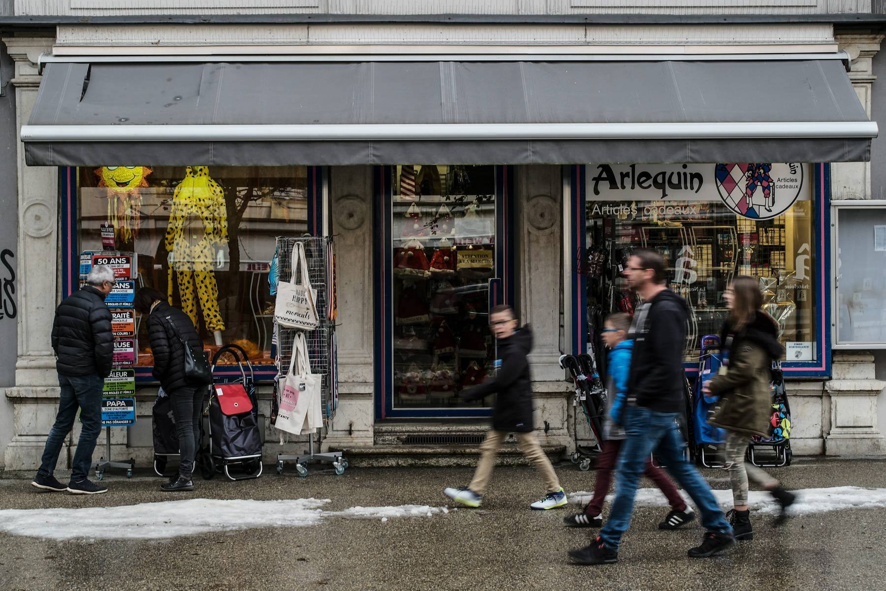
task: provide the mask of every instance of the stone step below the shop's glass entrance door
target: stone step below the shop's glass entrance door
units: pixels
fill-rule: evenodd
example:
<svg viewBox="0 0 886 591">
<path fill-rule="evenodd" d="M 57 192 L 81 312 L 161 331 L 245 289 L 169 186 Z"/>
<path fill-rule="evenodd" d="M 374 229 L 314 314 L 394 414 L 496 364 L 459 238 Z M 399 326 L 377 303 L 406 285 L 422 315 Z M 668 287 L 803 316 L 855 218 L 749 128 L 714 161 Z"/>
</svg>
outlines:
<svg viewBox="0 0 886 591">
<path fill-rule="evenodd" d="M 565 446 L 541 446 L 552 462 L 558 462 Z M 389 468 L 394 466 L 476 466 L 480 455 L 478 445 L 376 445 L 372 447 L 332 448 L 341 451 L 352 466 Z M 495 465 L 527 466 L 517 444 L 501 446 Z"/>
</svg>

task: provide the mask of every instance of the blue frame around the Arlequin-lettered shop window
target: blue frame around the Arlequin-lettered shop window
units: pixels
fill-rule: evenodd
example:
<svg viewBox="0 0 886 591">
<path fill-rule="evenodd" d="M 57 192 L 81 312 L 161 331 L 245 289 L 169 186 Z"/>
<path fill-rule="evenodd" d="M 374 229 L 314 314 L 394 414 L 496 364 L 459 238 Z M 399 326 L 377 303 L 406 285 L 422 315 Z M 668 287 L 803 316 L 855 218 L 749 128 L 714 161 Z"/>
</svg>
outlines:
<svg viewBox="0 0 886 591">
<path fill-rule="evenodd" d="M 787 377 L 829 377 L 831 373 L 831 351 L 828 343 L 831 339 L 831 307 L 830 307 L 830 165 L 818 163 L 811 165 L 812 170 L 812 223 L 814 227 L 815 268 L 812 270 L 812 289 L 816 295 L 814 308 L 814 326 L 816 341 L 815 361 L 782 362 L 782 369 Z M 570 212 L 567 215 L 570 229 L 567 236 L 572 253 L 566 271 L 571 276 L 571 350 L 587 351 L 587 277 L 577 270 L 586 253 L 585 215 L 587 203 L 587 167 L 569 167 L 570 179 Z M 684 363 L 688 376 L 698 372 L 697 364 Z"/>
</svg>

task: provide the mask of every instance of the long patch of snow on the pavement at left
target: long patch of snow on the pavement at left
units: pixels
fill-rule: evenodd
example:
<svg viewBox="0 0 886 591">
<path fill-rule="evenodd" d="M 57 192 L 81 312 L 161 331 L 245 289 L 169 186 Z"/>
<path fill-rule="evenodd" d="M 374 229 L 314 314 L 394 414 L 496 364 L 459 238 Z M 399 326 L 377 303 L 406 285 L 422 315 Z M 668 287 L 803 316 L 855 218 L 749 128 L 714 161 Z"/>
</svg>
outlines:
<svg viewBox="0 0 886 591">
<path fill-rule="evenodd" d="M 441 508 L 428 505 L 352 507 L 324 511 L 329 499 L 252 501 L 188 499 L 83 509 L 0 509 L 0 532 L 51 540 L 159 540 L 253 527 L 307 527 L 330 517 L 424 517 Z"/>
</svg>

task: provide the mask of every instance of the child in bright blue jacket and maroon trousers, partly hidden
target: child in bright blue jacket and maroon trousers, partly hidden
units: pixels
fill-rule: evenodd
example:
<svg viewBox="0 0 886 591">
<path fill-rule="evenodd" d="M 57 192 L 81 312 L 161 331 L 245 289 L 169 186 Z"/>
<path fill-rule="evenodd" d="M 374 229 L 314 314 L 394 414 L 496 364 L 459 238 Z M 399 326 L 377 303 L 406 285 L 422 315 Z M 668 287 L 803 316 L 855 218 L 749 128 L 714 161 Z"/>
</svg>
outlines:
<svg viewBox="0 0 886 591">
<path fill-rule="evenodd" d="M 607 357 L 607 384 L 609 393 L 608 412 L 603 423 L 603 449 L 596 459 L 596 479 L 594 483 L 594 496 L 587 503 L 584 511 L 577 515 L 563 517 L 563 522 L 569 527 L 601 527 L 603 519 L 600 513 L 603 501 L 609 492 L 612 480 L 612 470 L 618 462 L 618 452 L 626 435 L 622 428 L 621 416 L 627 400 L 627 378 L 631 373 L 631 353 L 633 340 L 628 337 L 631 330 L 631 317 L 626 314 L 613 314 L 606 318 L 605 328 L 602 330 L 603 343 L 610 349 Z M 664 496 L 671 504 L 671 512 L 664 518 L 658 527 L 660 529 L 677 529 L 692 521 L 696 514 L 689 509 L 683 497 L 673 486 L 671 479 L 660 468 L 652 465 L 651 458 L 646 461 L 644 474 L 656 483 Z"/>
</svg>

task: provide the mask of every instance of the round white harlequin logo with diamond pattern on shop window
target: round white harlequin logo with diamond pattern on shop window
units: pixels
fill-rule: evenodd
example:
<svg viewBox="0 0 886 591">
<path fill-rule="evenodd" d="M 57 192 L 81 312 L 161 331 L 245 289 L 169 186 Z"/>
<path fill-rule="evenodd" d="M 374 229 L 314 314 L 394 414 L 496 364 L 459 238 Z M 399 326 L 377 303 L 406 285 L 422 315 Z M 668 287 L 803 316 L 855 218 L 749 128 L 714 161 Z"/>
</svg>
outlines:
<svg viewBox="0 0 886 591">
<path fill-rule="evenodd" d="M 715 165 L 717 191 L 729 209 L 755 220 L 768 220 L 794 205 L 803 189 L 803 165 L 797 162 L 729 162 Z"/>
</svg>

